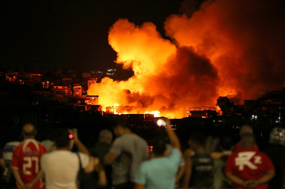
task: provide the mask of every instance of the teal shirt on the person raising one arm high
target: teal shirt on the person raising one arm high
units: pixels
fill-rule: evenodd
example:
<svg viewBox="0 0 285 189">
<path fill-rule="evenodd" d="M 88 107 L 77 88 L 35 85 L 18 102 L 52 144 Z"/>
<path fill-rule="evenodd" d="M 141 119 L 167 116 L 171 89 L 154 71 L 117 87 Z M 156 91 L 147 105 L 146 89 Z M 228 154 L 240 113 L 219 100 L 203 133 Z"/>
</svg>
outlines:
<svg viewBox="0 0 285 189">
<path fill-rule="evenodd" d="M 144 184 L 146 189 L 175 187 L 176 173 L 180 163 L 180 151 L 176 148 L 163 158 L 153 158 L 143 162 L 139 168 L 135 183 Z"/>
</svg>

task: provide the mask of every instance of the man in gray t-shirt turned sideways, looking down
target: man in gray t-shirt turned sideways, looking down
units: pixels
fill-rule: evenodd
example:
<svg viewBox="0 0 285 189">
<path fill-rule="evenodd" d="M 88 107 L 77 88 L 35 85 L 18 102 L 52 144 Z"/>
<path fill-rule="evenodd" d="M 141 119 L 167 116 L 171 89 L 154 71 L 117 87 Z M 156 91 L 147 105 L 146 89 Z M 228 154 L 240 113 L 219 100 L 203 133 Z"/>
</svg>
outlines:
<svg viewBox="0 0 285 189">
<path fill-rule="evenodd" d="M 118 121 L 113 131 L 117 138 L 104 157 L 104 163 L 113 163 L 112 185 L 114 188 L 130 189 L 134 187 L 134 179 L 140 164 L 147 158 L 147 142 L 134 134 L 123 120 Z"/>
</svg>

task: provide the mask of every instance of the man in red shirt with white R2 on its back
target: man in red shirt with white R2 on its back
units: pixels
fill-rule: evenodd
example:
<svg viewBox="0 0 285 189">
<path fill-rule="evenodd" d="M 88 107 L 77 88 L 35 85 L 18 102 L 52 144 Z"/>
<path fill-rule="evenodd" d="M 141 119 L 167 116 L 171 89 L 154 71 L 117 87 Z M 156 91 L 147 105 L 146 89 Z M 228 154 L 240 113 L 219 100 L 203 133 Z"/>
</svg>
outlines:
<svg viewBox="0 0 285 189">
<path fill-rule="evenodd" d="M 242 149 L 230 155 L 226 162 L 225 173 L 232 181 L 232 188 L 267 189 L 268 181 L 275 175 L 270 158 L 254 150 L 255 139 L 252 135 L 241 138 Z"/>
</svg>

